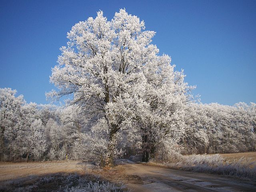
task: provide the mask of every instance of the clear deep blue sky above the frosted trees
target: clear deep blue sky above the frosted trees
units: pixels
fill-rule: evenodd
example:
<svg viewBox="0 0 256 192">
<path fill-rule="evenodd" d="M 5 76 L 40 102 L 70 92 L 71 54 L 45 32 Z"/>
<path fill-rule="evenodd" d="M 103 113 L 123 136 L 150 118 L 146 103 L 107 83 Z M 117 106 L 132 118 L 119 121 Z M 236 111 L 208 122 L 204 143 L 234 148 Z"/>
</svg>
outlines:
<svg viewBox="0 0 256 192">
<path fill-rule="evenodd" d="M 0 87 L 48 103 L 66 33 L 98 10 L 111 20 L 120 8 L 156 32 L 152 43 L 184 69 L 202 103 L 256 102 L 256 0 L 1 0 Z"/>
</svg>

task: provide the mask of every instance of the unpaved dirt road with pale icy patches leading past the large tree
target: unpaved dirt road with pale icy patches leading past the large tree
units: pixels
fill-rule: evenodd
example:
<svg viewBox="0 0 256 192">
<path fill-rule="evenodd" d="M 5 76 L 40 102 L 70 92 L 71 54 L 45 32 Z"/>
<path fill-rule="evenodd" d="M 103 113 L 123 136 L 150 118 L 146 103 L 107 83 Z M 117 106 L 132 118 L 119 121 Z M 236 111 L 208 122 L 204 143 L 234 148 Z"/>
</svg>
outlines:
<svg viewBox="0 0 256 192">
<path fill-rule="evenodd" d="M 128 183 L 134 192 L 255 192 L 256 182 L 226 176 L 172 170 L 120 160 L 130 176 L 137 175 L 142 184 Z"/>
</svg>

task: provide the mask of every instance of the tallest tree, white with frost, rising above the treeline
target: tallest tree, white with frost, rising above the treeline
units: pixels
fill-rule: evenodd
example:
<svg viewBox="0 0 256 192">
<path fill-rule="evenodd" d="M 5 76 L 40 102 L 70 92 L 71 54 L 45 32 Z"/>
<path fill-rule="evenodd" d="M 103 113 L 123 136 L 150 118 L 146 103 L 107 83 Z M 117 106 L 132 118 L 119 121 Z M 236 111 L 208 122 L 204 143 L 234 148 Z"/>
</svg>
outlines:
<svg viewBox="0 0 256 192">
<path fill-rule="evenodd" d="M 92 132 L 107 135 L 106 165 L 112 163 L 120 131 L 135 126 L 145 132 L 142 137 L 150 130 L 172 137 L 184 131 L 191 87 L 182 72 L 174 71 L 170 57 L 158 55 L 150 44 L 155 32 L 144 29 L 144 21 L 123 9 L 111 21 L 100 11 L 72 27 L 52 69 L 50 81 L 59 91 L 48 95 L 71 95 L 67 104 L 84 112 Z"/>
</svg>

